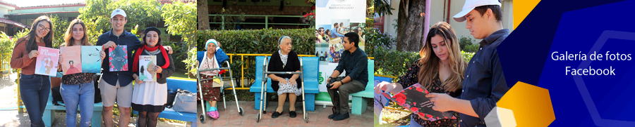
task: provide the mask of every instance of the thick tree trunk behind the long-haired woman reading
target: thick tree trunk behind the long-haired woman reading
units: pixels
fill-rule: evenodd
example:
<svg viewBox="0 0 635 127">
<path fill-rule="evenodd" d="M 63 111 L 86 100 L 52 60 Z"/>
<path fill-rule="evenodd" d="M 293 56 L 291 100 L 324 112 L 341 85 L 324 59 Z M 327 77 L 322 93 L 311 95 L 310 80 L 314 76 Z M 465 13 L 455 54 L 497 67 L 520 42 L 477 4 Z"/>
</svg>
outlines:
<svg viewBox="0 0 635 127">
<path fill-rule="evenodd" d="M 397 21 L 397 50 L 419 51 L 423 43 L 423 16 L 425 1 L 402 0 L 399 2 Z"/>
</svg>

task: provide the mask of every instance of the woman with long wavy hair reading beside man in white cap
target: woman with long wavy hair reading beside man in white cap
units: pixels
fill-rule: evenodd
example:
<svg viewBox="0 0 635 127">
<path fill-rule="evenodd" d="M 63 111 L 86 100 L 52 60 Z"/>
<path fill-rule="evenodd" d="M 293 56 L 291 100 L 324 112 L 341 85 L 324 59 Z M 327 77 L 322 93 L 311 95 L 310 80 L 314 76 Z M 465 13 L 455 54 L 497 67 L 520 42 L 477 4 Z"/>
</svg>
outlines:
<svg viewBox="0 0 635 127">
<path fill-rule="evenodd" d="M 446 22 L 438 22 L 430 27 L 430 34 L 426 37 L 416 60 L 404 76 L 399 76 L 397 83 L 382 82 L 375 86 L 375 93 L 382 91 L 393 94 L 399 93 L 413 84 L 420 83 L 430 93 L 447 93 L 456 98 L 461 94 L 467 62 L 463 60 L 459 41 L 454 29 Z M 425 97 L 421 97 L 425 98 Z M 411 126 L 459 126 L 459 113 L 456 119 L 440 119 L 428 121 L 417 114 L 411 115 Z"/>
</svg>

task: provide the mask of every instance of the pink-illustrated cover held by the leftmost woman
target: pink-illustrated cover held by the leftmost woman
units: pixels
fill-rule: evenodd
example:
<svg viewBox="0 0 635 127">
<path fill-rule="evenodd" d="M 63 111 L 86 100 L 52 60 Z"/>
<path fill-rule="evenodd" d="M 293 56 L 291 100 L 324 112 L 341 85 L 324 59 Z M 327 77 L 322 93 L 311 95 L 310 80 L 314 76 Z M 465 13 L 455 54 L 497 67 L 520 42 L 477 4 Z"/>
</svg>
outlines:
<svg viewBox="0 0 635 127">
<path fill-rule="evenodd" d="M 35 74 L 56 76 L 59 49 L 39 46 L 37 51 L 40 55 L 35 60 Z"/>
</svg>

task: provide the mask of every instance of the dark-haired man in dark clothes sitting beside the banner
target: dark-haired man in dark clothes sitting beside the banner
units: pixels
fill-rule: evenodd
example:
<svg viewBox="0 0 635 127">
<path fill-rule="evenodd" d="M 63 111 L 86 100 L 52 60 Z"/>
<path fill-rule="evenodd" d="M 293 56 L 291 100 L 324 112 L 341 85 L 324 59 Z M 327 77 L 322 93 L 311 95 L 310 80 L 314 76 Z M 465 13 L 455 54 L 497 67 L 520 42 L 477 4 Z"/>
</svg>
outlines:
<svg viewBox="0 0 635 127">
<path fill-rule="evenodd" d="M 359 36 L 353 32 L 344 34 L 344 53 L 335 67 L 333 74 L 327 79 L 329 95 L 335 111 L 329 119 L 341 121 L 349 118 L 349 94 L 364 91 L 368 83 L 368 57 L 358 48 Z M 345 76 L 339 76 L 346 70 Z M 339 91 L 339 93 L 338 93 Z"/>
</svg>

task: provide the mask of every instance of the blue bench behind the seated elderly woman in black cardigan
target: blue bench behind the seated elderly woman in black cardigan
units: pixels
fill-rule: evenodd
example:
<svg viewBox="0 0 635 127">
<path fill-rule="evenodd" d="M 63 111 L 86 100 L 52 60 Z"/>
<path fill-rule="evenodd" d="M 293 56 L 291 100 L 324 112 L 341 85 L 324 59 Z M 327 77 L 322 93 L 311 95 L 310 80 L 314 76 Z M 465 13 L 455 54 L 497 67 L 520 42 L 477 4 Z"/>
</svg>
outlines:
<svg viewBox="0 0 635 127">
<path fill-rule="evenodd" d="M 262 88 L 262 62 L 264 62 L 265 56 L 257 56 L 255 60 L 255 81 L 253 85 L 249 88 L 250 92 L 254 93 L 254 107 L 255 109 L 260 109 L 260 90 Z M 317 88 L 317 76 L 318 73 L 318 63 L 317 57 L 303 57 L 302 64 L 304 66 L 304 98 L 306 102 L 306 110 L 307 111 L 315 111 L 315 94 L 320 93 L 320 90 Z M 267 78 L 267 93 L 275 93 L 273 88 L 271 88 L 271 79 Z M 266 101 L 266 100 L 265 100 Z M 296 101 L 296 102 L 299 102 Z"/>
</svg>

